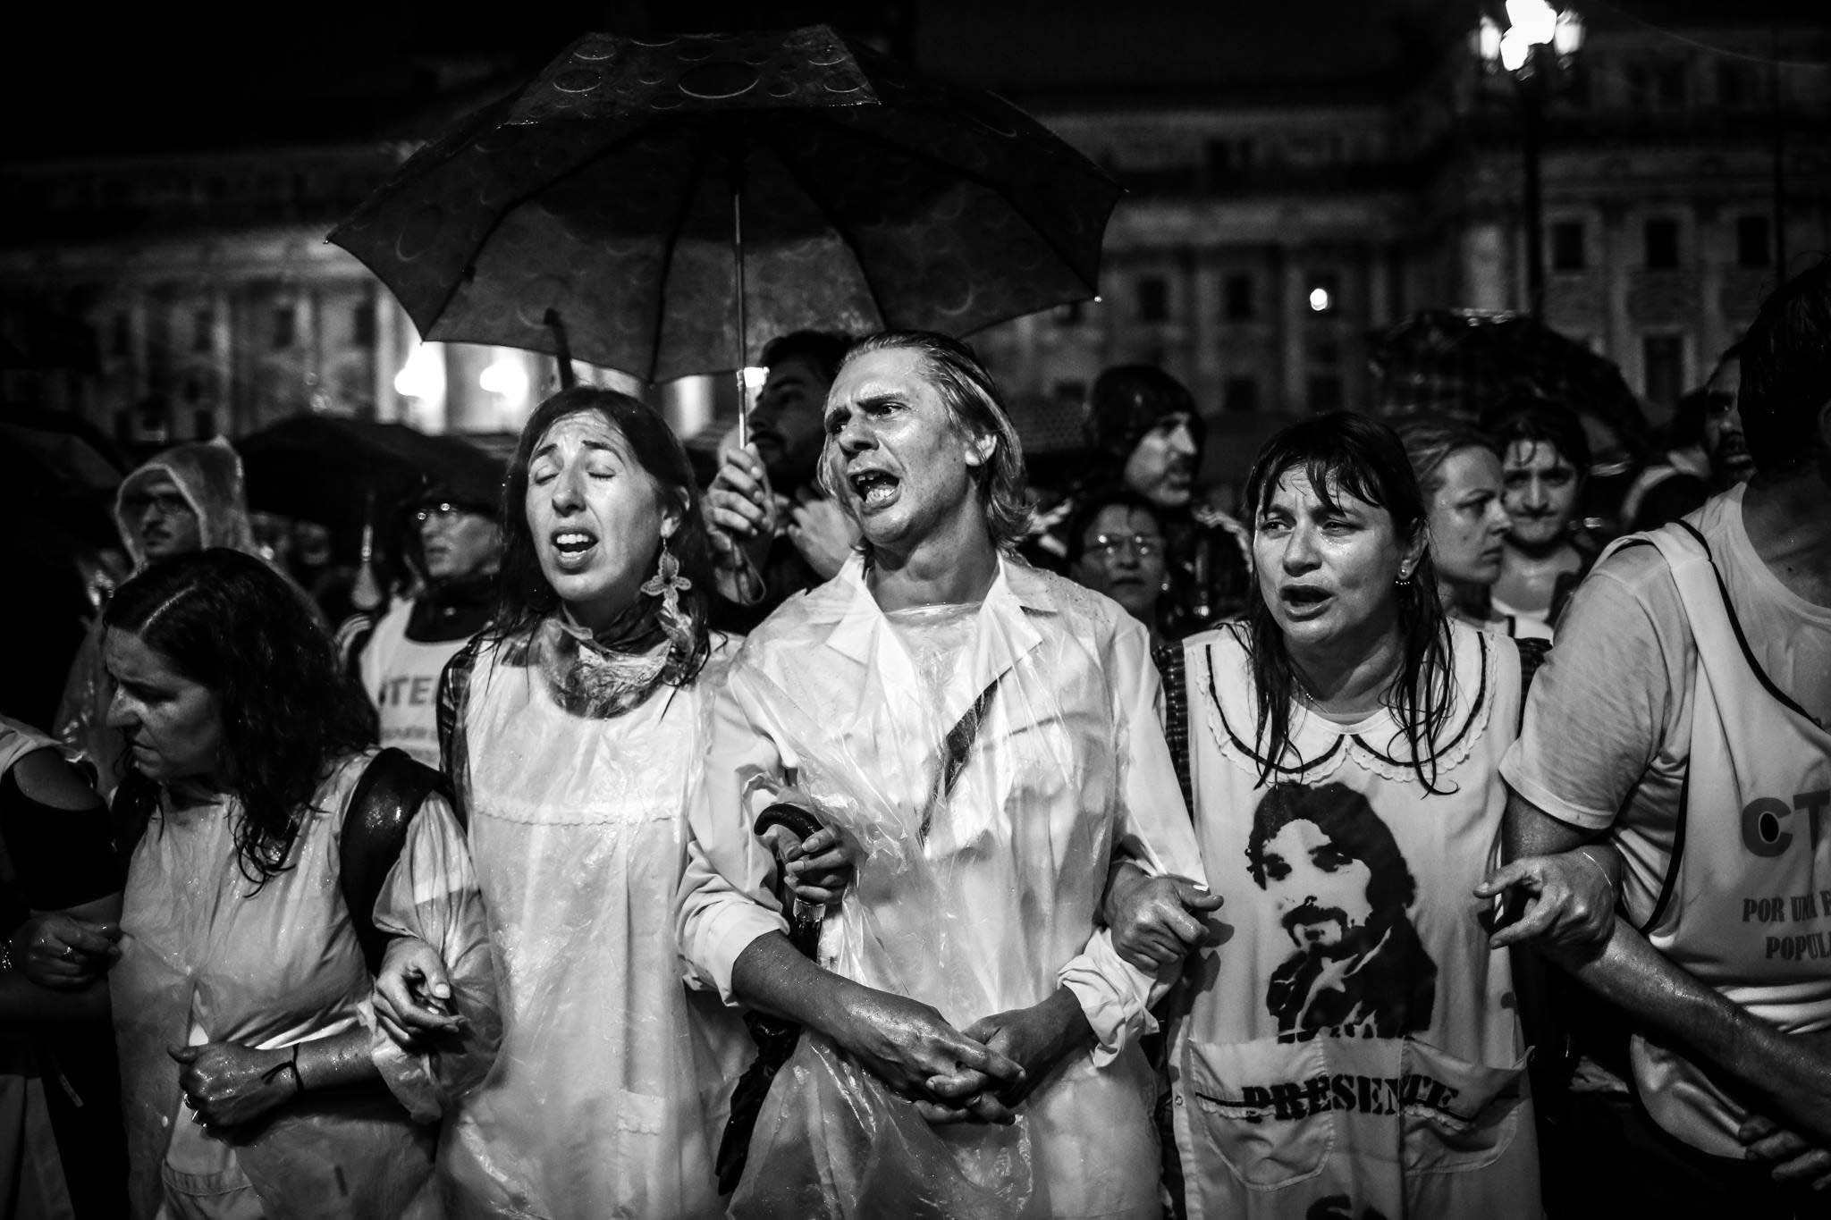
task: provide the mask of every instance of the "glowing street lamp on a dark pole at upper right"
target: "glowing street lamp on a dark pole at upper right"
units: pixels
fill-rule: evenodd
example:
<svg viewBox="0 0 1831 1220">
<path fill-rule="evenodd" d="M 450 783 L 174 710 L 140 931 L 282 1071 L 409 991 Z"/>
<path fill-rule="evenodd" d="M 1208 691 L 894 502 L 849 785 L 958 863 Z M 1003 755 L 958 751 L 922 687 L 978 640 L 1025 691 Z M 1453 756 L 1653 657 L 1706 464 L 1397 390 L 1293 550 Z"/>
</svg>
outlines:
<svg viewBox="0 0 1831 1220">
<path fill-rule="evenodd" d="M 1555 9 L 1545 0 L 1507 0 L 1505 26 L 1481 15 L 1476 51 L 1492 77 L 1505 71 L 1520 97 L 1520 154 L 1525 163 L 1525 296 L 1533 316 L 1545 304 L 1545 216 L 1538 185 L 1544 146 L 1545 99 L 1569 75 L 1584 46 L 1584 20 L 1576 9 Z"/>
</svg>

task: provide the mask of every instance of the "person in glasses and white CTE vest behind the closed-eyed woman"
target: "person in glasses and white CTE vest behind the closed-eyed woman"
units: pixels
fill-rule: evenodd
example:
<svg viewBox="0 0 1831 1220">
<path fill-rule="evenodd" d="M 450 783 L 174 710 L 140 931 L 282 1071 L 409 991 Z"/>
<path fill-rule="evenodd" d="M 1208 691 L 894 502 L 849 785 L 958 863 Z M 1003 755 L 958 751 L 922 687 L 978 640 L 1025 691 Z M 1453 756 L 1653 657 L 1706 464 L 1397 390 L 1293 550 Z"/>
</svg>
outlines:
<svg viewBox="0 0 1831 1220">
<path fill-rule="evenodd" d="M 344 668 L 381 713 L 381 744 L 439 765 L 438 691 L 445 662 L 489 626 L 502 565 L 500 487 L 434 483 L 412 507 L 427 583 L 344 620 Z"/>
</svg>

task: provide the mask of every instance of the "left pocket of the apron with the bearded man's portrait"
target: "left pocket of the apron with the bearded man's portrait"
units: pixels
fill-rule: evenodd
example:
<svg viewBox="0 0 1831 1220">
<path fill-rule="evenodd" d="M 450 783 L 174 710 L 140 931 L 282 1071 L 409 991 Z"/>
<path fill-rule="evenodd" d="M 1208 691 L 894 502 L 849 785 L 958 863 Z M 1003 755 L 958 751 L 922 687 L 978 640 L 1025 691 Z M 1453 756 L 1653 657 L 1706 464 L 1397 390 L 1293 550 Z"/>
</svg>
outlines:
<svg viewBox="0 0 1831 1220">
<path fill-rule="evenodd" d="M 1327 1083 L 1318 1041 L 1190 1041 L 1183 1054 L 1190 1134 L 1249 1189 L 1285 1187 L 1327 1163 L 1335 1147 Z"/>
</svg>

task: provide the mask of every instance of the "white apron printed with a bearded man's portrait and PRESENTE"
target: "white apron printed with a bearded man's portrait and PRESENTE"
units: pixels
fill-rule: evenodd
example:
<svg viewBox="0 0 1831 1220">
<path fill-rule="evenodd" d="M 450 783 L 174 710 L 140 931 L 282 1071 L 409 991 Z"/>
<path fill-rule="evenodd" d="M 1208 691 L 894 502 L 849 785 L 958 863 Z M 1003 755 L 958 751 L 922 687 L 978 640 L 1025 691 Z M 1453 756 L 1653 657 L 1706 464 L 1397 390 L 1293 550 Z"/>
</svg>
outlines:
<svg viewBox="0 0 1831 1220">
<path fill-rule="evenodd" d="M 1392 712 L 1291 706 L 1262 781 L 1241 627 L 1185 644 L 1196 834 L 1230 933 L 1188 962 L 1172 1121 L 1188 1215 L 1540 1215 L 1512 971 L 1470 891 L 1518 735 L 1505 637 L 1450 626 L 1430 792 Z M 1426 766 L 1428 774 L 1428 766 Z"/>
</svg>

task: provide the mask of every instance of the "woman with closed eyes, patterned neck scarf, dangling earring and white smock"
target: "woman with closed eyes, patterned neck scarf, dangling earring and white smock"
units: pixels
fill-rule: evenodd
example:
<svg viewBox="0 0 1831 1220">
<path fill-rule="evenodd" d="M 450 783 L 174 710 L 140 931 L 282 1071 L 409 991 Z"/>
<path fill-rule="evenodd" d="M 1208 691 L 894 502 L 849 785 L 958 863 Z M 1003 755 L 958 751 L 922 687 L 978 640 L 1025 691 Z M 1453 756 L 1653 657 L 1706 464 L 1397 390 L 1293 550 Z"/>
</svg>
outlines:
<svg viewBox="0 0 1831 1220">
<path fill-rule="evenodd" d="M 502 519 L 496 618 L 439 697 L 505 1011 L 439 1150 L 447 1213 L 718 1215 L 714 1150 L 753 1048 L 674 947 L 729 649 L 707 631 L 692 468 L 652 408 L 562 390 L 522 430 Z M 438 1024 L 390 995 L 403 1035 Z"/>
</svg>

